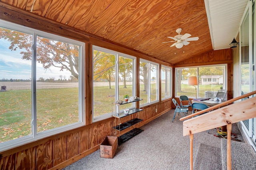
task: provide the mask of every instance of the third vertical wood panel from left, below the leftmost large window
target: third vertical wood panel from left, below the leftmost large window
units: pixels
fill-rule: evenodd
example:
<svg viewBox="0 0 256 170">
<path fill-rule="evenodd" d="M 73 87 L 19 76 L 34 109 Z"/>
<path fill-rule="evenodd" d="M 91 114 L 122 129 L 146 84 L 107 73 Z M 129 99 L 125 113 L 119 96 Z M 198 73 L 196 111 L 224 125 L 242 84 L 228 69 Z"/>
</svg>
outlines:
<svg viewBox="0 0 256 170">
<path fill-rule="evenodd" d="M 36 169 L 50 169 L 53 166 L 52 141 L 36 146 Z"/>
</svg>

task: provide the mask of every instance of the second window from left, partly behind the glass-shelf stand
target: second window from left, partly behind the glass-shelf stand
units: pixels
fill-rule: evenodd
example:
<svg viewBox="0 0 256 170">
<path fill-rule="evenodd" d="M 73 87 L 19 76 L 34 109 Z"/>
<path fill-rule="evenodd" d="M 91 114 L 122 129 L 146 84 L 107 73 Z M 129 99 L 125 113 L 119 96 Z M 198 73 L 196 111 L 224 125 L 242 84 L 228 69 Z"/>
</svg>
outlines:
<svg viewBox="0 0 256 170">
<path fill-rule="evenodd" d="M 125 94 L 135 96 L 135 61 L 133 56 L 93 46 L 94 121 L 111 117 L 112 102 L 124 101 Z M 132 108 L 134 103 L 125 107 Z"/>
</svg>

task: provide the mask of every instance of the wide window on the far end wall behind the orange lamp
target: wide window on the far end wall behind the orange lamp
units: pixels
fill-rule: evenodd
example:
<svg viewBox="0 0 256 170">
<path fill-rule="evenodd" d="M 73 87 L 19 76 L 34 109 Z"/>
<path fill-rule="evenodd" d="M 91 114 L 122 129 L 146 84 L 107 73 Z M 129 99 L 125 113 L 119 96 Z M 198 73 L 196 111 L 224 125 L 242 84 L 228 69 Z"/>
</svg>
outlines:
<svg viewBox="0 0 256 170">
<path fill-rule="evenodd" d="M 214 98 L 218 90 L 226 89 L 226 64 L 176 68 L 175 74 L 175 96 L 177 97 L 186 95 L 189 98 L 196 98 L 196 96 L 198 98 Z M 190 76 L 197 77 L 198 85 L 190 86 L 188 84 Z"/>
</svg>

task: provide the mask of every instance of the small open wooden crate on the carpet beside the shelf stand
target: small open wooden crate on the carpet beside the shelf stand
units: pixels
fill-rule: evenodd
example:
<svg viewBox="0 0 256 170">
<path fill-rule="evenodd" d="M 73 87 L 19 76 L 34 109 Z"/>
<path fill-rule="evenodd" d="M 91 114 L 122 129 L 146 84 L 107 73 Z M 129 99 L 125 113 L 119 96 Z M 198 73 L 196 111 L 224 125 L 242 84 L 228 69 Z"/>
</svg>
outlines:
<svg viewBox="0 0 256 170">
<path fill-rule="evenodd" d="M 116 136 L 107 136 L 100 145 L 100 157 L 114 158 L 118 146 L 118 139 Z"/>
</svg>

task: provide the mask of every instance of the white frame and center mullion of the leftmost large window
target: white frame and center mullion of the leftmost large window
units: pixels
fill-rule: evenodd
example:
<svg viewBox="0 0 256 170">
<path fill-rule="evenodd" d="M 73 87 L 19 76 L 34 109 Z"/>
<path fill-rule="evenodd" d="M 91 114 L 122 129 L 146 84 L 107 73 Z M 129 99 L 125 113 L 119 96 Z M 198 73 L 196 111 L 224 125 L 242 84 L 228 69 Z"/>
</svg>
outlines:
<svg viewBox="0 0 256 170">
<path fill-rule="evenodd" d="M 51 129 L 51 130 L 47 130 L 47 131 L 44 131 L 44 132 L 39 132 L 37 133 L 37 129 L 36 129 L 36 113 L 32 110 L 31 114 L 32 114 L 32 122 L 31 122 L 31 128 L 32 128 L 32 135 L 28 135 L 28 136 L 24 136 L 24 137 L 21 137 L 21 138 L 17 138 L 17 139 L 14 139 L 14 140 L 10 140 L 10 141 L 6 141 L 6 142 L 3 142 L 0 144 L 0 152 L 2 150 L 6 150 L 6 149 L 9 149 L 9 148 L 14 148 L 16 146 L 20 146 L 20 145 L 24 145 L 24 144 L 27 144 L 27 143 L 30 143 L 30 142 L 33 142 L 33 141 L 36 141 L 36 140 L 40 140 L 42 138 L 46 138 L 48 136 L 52 136 L 54 134 L 58 134 L 58 133 L 61 133 L 61 132 L 65 132 L 67 130 L 72 130 L 72 129 L 75 129 L 75 128 L 78 128 L 78 127 L 81 127 L 81 126 L 84 126 L 85 125 L 85 106 L 84 106 L 84 89 L 85 89 L 85 84 L 84 84 L 84 61 L 85 61 L 85 43 L 84 42 L 79 42 L 77 40 L 72 40 L 70 38 L 65 38 L 65 37 L 62 37 L 62 36 L 58 36 L 58 35 L 55 35 L 55 34 L 50 34 L 50 33 L 47 33 L 47 32 L 43 32 L 43 31 L 40 31 L 40 30 L 36 30 L 36 29 L 33 29 L 33 28 L 28 28 L 28 27 L 25 27 L 25 26 L 21 26 L 21 25 L 18 25 L 18 24 L 14 24 L 14 23 L 11 23 L 11 22 L 6 22 L 6 21 L 3 21 L 3 20 L 0 20 L 0 26 L 3 27 L 3 28 L 7 28 L 7 29 L 11 29 L 11 30 L 16 30 L 18 32 L 24 32 L 24 33 L 27 33 L 27 34 L 32 34 L 33 35 L 33 41 L 36 40 L 36 36 L 43 36 L 43 37 L 46 37 L 46 38 L 49 38 L 49 39 L 54 39 L 54 40 L 57 40 L 57 41 L 61 41 L 61 42 L 66 42 L 66 43 L 70 43 L 70 44 L 74 44 L 74 45 L 78 45 L 80 46 L 80 62 L 79 62 L 79 104 L 78 104 L 78 122 L 76 123 L 73 123 L 73 124 L 68 124 L 66 126 L 61 126 L 61 127 L 58 127 L 58 128 L 54 128 L 54 129 Z M 36 42 L 36 41 L 35 41 Z M 33 45 L 34 46 L 34 49 L 36 48 L 35 44 Z M 32 55 L 35 55 L 36 50 L 32 50 Z M 32 56 L 34 58 L 34 56 Z M 35 70 L 33 71 L 32 70 L 32 74 L 35 74 Z M 32 83 L 35 83 L 36 82 L 36 77 L 35 76 L 32 76 L 33 77 L 33 80 L 32 80 Z M 36 84 L 33 85 L 34 86 L 34 89 L 35 89 L 35 86 Z M 32 98 L 34 98 L 35 96 L 33 96 L 33 89 L 32 89 Z M 34 94 L 36 95 L 36 94 Z M 33 101 L 32 100 L 32 104 L 36 104 L 35 103 L 35 100 Z M 35 105 L 36 106 L 36 105 Z M 33 106 L 32 106 L 33 108 Z"/>
</svg>

